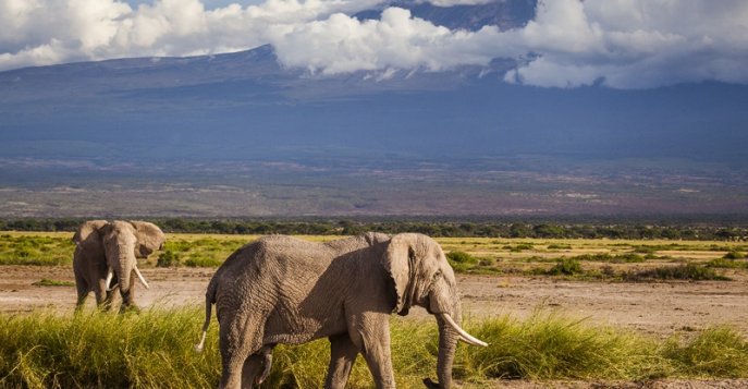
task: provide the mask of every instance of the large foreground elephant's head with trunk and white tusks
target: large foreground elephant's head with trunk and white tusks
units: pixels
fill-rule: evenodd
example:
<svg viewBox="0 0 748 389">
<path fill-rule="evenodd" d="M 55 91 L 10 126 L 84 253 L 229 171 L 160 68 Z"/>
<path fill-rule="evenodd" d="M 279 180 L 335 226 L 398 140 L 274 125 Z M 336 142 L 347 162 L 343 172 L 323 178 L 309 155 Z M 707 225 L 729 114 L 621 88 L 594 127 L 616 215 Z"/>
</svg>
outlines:
<svg viewBox="0 0 748 389">
<path fill-rule="evenodd" d="M 475 345 L 487 343 L 459 327 L 462 312 L 456 281 L 439 243 L 415 233 L 394 235 L 383 258 L 393 280 L 394 313 L 406 315 L 412 305 L 425 307 L 434 315 L 439 326 L 439 360 L 437 374 L 440 384 L 426 379 L 429 387 L 452 386 L 452 364 L 457 340 Z"/>
</svg>

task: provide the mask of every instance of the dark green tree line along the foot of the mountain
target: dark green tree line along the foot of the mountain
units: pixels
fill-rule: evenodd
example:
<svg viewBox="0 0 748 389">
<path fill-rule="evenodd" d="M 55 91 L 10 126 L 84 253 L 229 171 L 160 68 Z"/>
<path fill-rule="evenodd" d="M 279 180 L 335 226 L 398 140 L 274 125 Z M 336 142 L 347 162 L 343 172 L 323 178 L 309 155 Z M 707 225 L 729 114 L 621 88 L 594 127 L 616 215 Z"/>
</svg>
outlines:
<svg viewBox="0 0 748 389">
<path fill-rule="evenodd" d="M 75 231 L 86 219 L 25 218 L 0 219 L 2 231 Z M 636 239 L 746 241 L 748 227 L 703 223 L 651 224 L 553 223 L 525 221 L 459 220 L 269 220 L 269 219 L 193 219 L 156 218 L 151 221 L 164 232 L 221 234 L 306 234 L 353 235 L 366 231 L 383 233 L 420 232 L 431 236 L 464 238 L 542 238 L 542 239 Z"/>
</svg>

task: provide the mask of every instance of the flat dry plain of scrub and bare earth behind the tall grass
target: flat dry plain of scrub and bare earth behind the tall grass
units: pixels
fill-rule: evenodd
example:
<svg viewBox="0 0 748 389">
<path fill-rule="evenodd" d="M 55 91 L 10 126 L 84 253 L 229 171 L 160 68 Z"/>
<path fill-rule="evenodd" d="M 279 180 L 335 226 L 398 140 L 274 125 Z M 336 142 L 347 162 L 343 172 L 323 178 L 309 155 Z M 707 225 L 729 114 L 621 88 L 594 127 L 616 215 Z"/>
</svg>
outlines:
<svg viewBox="0 0 748 389">
<path fill-rule="evenodd" d="M 71 236 L 0 232 L 0 264 L 12 264 L 0 265 L 1 314 L 73 312 Z M 138 305 L 145 309 L 201 306 L 217 266 L 256 238 L 168 234 L 164 250 L 139 265 L 150 289 L 138 288 Z M 327 241 L 339 236 L 301 238 Z M 438 241 L 458 270 L 467 320 L 508 316 L 522 323 L 540 312 L 591 328 L 611 327 L 663 342 L 698 337 L 723 326 L 744 339 L 748 337 L 747 259 L 725 258 L 729 253 L 745 253 L 748 245 L 743 242 L 496 238 Z M 698 271 L 655 271 L 685 268 Z M 87 309 L 94 309 L 93 300 L 89 297 Z M 413 309 L 405 320 L 433 321 L 420 308 Z M 478 387 L 487 384 L 523 389 L 740 388 L 748 381 L 732 376 L 636 382 L 496 380 Z"/>
</svg>

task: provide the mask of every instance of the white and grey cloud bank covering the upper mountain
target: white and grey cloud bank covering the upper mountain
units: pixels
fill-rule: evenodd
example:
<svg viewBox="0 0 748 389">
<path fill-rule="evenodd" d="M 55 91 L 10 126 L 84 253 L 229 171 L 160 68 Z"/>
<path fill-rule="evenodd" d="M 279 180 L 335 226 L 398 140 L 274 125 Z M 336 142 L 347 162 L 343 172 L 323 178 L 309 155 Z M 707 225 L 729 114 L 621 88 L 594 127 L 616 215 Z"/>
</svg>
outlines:
<svg viewBox="0 0 748 389">
<path fill-rule="evenodd" d="M 648 88 L 748 83 L 745 0 L 545 0 L 512 31 L 450 31 L 381 0 L 267 0 L 206 8 L 200 0 L 0 0 L 0 69 L 118 57 L 275 48 L 285 66 L 329 75 L 440 71 L 518 60 L 510 83 Z M 429 0 L 449 7 L 483 0 Z"/>
</svg>

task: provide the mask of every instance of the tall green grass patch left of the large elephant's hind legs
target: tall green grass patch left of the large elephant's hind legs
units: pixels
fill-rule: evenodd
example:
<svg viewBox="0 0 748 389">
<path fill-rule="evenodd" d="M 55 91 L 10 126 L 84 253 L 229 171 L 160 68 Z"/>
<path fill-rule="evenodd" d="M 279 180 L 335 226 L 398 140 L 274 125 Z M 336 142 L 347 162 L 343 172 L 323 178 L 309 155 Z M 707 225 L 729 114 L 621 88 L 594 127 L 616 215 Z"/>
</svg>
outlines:
<svg viewBox="0 0 748 389">
<path fill-rule="evenodd" d="M 197 309 L 2 315 L 0 387 L 214 387 L 214 342 L 193 350 L 199 321 Z"/>
</svg>

